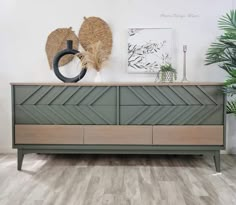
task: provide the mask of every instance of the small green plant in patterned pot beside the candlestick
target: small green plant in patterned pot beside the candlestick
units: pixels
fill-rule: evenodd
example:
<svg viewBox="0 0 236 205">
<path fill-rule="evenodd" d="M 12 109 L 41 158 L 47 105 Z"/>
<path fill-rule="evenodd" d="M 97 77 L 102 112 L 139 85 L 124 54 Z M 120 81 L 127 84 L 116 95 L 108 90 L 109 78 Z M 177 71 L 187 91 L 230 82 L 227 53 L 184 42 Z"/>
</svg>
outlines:
<svg viewBox="0 0 236 205">
<path fill-rule="evenodd" d="M 177 79 L 177 72 L 170 63 L 167 63 L 160 66 L 160 71 L 157 73 L 157 78 L 159 78 L 161 82 L 173 82 Z"/>
</svg>

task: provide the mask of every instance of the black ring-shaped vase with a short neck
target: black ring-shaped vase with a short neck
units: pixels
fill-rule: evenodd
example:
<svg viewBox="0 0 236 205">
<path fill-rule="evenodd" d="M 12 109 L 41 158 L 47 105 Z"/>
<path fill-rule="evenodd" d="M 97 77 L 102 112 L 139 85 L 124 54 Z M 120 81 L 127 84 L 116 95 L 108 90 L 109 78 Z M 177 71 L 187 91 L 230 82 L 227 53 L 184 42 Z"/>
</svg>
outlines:
<svg viewBox="0 0 236 205">
<path fill-rule="evenodd" d="M 61 81 L 68 82 L 68 83 L 75 83 L 75 82 L 78 82 L 79 80 L 81 80 L 85 76 L 85 74 L 87 72 L 86 67 L 82 68 L 79 75 L 77 75 L 73 78 L 67 78 L 67 77 L 63 76 L 59 71 L 59 61 L 64 55 L 68 55 L 68 54 L 75 55 L 75 54 L 78 54 L 78 53 L 79 53 L 79 51 L 73 49 L 73 41 L 68 40 L 67 41 L 67 48 L 65 50 L 62 50 L 62 51 L 58 52 L 56 54 L 56 56 L 54 57 L 54 59 L 53 59 L 53 70 L 54 70 L 55 75 Z"/>
</svg>

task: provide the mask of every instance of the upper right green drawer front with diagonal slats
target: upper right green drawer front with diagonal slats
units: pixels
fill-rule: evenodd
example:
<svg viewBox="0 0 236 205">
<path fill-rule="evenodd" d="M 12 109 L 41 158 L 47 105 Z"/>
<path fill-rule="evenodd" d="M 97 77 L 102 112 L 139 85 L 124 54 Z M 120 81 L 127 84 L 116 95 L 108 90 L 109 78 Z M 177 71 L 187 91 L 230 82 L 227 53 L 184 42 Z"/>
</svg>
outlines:
<svg viewBox="0 0 236 205">
<path fill-rule="evenodd" d="M 222 86 L 121 86 L 121 105 L 220 105 Z"/>
</svg>

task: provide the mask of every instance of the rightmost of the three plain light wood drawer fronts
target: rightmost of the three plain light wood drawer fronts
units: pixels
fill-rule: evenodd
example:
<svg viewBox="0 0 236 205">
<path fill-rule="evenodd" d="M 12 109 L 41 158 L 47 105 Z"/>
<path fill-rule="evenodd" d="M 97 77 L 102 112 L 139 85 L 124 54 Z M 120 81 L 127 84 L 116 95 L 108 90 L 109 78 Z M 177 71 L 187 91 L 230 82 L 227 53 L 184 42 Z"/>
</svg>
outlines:
<svg viewBox="0 0 236 205">
<path fill-rule="evenodd" d="M 223 126 L 154 126 L 155 145 L 223 145 Z"/>
</svg>

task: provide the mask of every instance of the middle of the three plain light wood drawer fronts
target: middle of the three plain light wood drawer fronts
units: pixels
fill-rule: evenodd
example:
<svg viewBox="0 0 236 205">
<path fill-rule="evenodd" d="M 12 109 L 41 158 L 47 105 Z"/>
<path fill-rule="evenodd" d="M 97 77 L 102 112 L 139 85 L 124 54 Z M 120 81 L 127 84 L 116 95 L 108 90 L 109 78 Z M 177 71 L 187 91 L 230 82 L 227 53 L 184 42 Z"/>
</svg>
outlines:
<svg viewBox="0 0 236 205">
<path fill-rule="evenodd" d="M 85 126 L 84 144 L 152 144 L 152 127 Z"/>
</svg>

